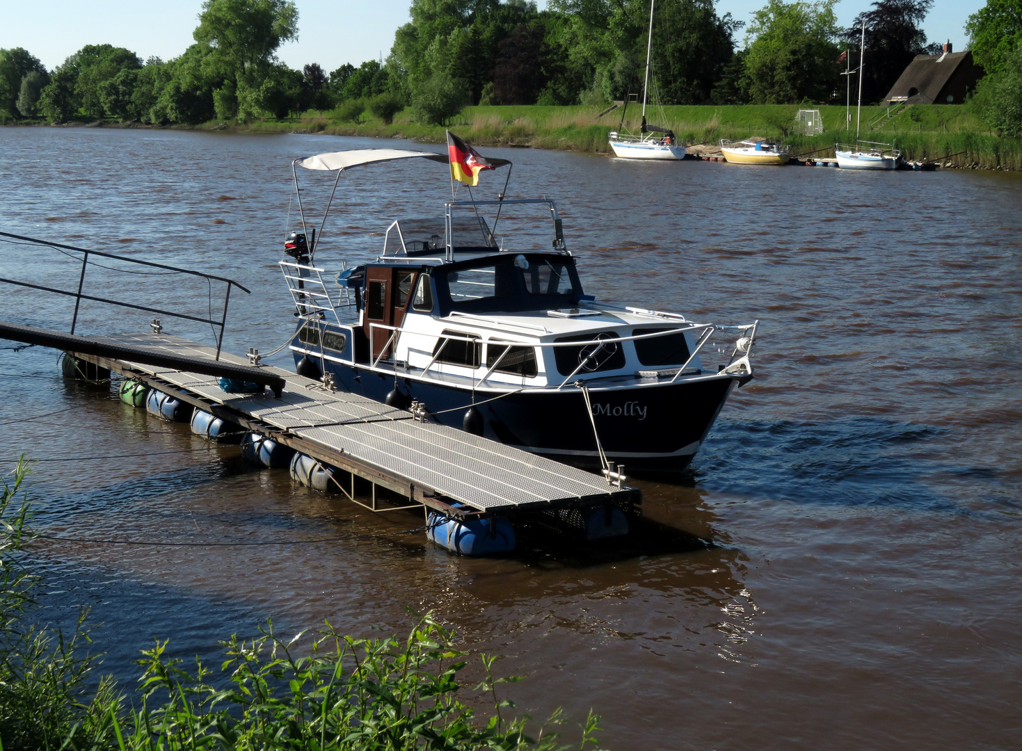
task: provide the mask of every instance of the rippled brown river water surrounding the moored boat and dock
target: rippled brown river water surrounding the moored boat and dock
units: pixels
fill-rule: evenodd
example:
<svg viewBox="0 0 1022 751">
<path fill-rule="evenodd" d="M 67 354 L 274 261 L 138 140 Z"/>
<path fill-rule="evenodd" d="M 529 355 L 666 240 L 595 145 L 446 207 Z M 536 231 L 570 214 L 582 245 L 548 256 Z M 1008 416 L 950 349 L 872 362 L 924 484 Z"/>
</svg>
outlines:
<svg viewBox="0 0 1022 751">
<path fill-rule="evenodd" d="M 267 350 L 294 326 L 276 267 L 291 159 L 382 146 L 416 148 L 4 128 L 0 229 L 236 279 L 251 294 L 232 294 L 225 346 Z M 692 471 L 635 481 L 646 521 L 633 538 L 459 558 L 406 533 L 421 516 L 374 516 L 294 486 L 237 448 L 64 382 L 52 350 L 4 348 L 3 467 L 22 452 L 40 460 L 41 531 L 340 538 L 42 539 L 40 617 L 66 627 L 91 607 L 104 669 L 131 687 L 153 638 L 216 664 L 219 640 L 270 616 L 287 632 L 328 619 L 400 633 L 410 607 L 500 654 L 499 672 L 524 675 L 509 692 L 520 710 L 561 706 L 577 723 L 593 708 L 612 749 L 1022 747 L 1022 176 L 485 151 L 514 160 L 511 195 L 558 199 L 587 292 L 761 321 L 756 378 Z M 329 191 L 316 178 L 307 206 Z M 484 174 L 476 196 L 503 183 Z M 433 162 L 353 172 L 322 252 L 366 257 L 382 245 L 367 232 L 439 216 L 446 195 Z M 0 269 L 78 280 L 73 261 L 33 246 L 0 243 Z M 66 299 L 7 286 L 0 320 L 66 329 Z M 222 294 L 95 268 L 87 286 L 198 314 Z M 141 331 L 150 317 L 91 304 L 79 330 Z M 207 327 L 164 325 L 212 340 Z"/>
</svg>

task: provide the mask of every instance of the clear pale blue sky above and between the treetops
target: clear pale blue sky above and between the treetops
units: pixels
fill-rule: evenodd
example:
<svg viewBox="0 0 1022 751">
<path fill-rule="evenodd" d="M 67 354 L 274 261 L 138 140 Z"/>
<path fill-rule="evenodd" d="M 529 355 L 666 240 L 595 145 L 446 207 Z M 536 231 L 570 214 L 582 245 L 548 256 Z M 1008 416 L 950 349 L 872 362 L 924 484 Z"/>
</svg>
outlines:
<svg viewBox="0 0 1022 751">
<path fill-rule="evenodd" d="M 410 0 L 296 0 L 298 41 L 280 50 L 292 67 L 319 62 L 327 72 L 386 56 L 394 30 L 409 20 Z M 540 6 L 545 5 L 541 0 Z M 765 0 L 718 0 L 717 12 L 749 20 Z M 985 0 L 935 0 L 923 25 L 931 41 L 966 46 L 966 18 Z M 127 47 L 143 59 L 170 59 L 191 44 L 201 0 L 0 0 L 0 47 L 25 47 L 53 68 L 86 44 Z M 848 26 L 869 0 L 840 0 Z"/>
</svg>

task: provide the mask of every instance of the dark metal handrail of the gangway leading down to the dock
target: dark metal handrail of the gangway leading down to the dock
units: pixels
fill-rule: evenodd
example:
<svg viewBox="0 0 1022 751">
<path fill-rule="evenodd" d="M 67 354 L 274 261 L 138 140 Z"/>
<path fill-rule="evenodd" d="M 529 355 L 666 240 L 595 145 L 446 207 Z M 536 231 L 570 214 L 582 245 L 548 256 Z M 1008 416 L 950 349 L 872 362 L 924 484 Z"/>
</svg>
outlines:
<svg viewBox="0 0 1022 751">
<path fill-rule="evenodd" d="M 78 287 L 77 287 L 77 289 L 75 291 L 71 291 L 71 290 L 67 290 L 67 289 L 57 289 L 55 287 L 48 287 L 48 286 L 44 286 L 44 285 L 41 285 L 41 284 L 33 284 L 33 283 L 30 283 L 30 282 L 18 281 L 18 280 L 14 280 L 14 279 L 0 278 L 0 282 L 3 282 L 5 284 L 12 284 L 12 285 L 15 285 L 15 286 L 18 286 L 18 287 L 26 287 L 28 289 L 34 289 L 34 290 L 41 291 L 41 292 L 50 292 L 50 293 L 53 293 L 53 294 L 61 294 L 61 295 L 65 295 L 65 296 L 68 296 L 68 297 L 74 297 L 75 298 L 75 312 L 72 315 L 71 332 L 69 332 L 72 334 L 75 333 L 75 328 L 78 326 L 79 312 L 81 311 L 83 300 L 88 300 L 88 301 L 92 301 L 92 302 L 100 302 L 100 303 L 104 303 L 104 304 L 115 306 L 115 307 L 119 307 L 119 308 L 128 308 L 128 309 L 135 310 L 135 311 L 144 311 L 146 313 L 152 313 L 152 314 L 155 314 L 157 316 L 169 316 L 171 318 L 179 318 L 179 319 L 183 319 L 183 320 L 187 320 L 187 321 L 194 321 L 196 323 L 201 323 L 203 325 L 210 325 L 210 326 L 214 327 L 214 334 L 215 334 L 216 339 L 217 339 L 217 356 L 216 356 L 216 359 L 220 360 L 220 348 L 221 348 L 221 345 L 223 344 L 223 341 L 224 341 L 224 329 L 227 326 L 227 308 L 228 308 L 228 303 L 230 302 L 230 299 L 231 299 L 231 288 L 232 287 L 237 287 L 242 292 L 249 293 L 248 289 L 246 289 L 245 287 L 241 286 L 240 284 L 238 284 L 233 279 L 227 279 L 225 277 L 218 277 L 218 276 L 214 276 L 213 274 L 205 274 L 203 272 L 194 271 L 192 269 L 182 269 L 182 268 L 177 267 L 177 266 L 168 266 L 167 264 L 156 264 L 156 263 L 153 263 L 151 261 L 141 261 L 140 259 L 132 259 L 132 257 L 129 257 L 129 256 L 126 256 L 126 255 L 118 255 L 115 253 L 102 252 L 100 250 L 90 250 L 90 249 L 83 248 L 83 247 L 77 247 L 75 245 L 64 245 L 64 244 L 59 243 L 59 242 L 51 242 L 49 240 L 41 240 L 41 239 L 38 239 L 38 238 L 35 238 L 35 237 L 24 237 L 21 235 L 12 235 L 12 234 L 10 234 L 8 232 L 0 232 L 0 237 L 9 238 L 7 240 L 4 240 L 4 242 L 10 242 L 10 243 L 15 244 L 15 245 L 37 245 L 37 246 L 40 246 L 40 247 L 51 247 L 51 248 L 57 250 L 57 252 L 63 253 L 64 255 L 67 255 L 68 257 L 74 259 L 76 261 L 78 260 L 77 256 L 76 255 L 72 255 L 72 253 L 82 253 L 82 268 L 81 268 L 81 271 L 78 274 Z M 71 252 L 67 252 L 67 251 L 71 251 Z M 97 259 L 103 259 L 103 260 L 115 262 L 117 264 L 126 264 L 126 265 L 140 266 L 140 267 L 144 267 L 146 269 L 159 269 L 160 272 L 141 271 L 141 270 L 138 270 L 138 269 L 120 269 L 120 268 L 117 268 L 115 266 L 109 266 L 109 265 L 106 265 L 106 264 L 100 264 L 100 263 L 97 262 Z M 185 313 L 180 313 L 180 312 L 177 312 L 177 311 L 170 311 L 170 310 L 166 310 L 166 309 L 161 309 L 161 308 L 153 308 L 151 306 L 142 306 L 142 304 L 138 304 L 137 302 L 126 302 L 124 300 L 118 300 L 118 299 L 113 299 L 113 298 L 110 298 L 110 297 L 101 297 L 101 296 L 98 296 L 98 295 L 86 294 L 86 292 L 85 292 L 85 290 L 86 290 L 86 271 L 88 270 L 88 268 L 90 266 L 94 266 L 94 267 L 97 267 L 99 269 L 104 269 L 104 270 L 109 271 L 109 272 L 121 272 L 121 273 L 126 273 L 126 274 L 140 274 L 140 275 L 158 274 L 159 276 L 164 276 L 165 274 L 185 274 L 187 276 L 193 276 L 193 277 L 197 277 L 199 279 L 203 279 L 206 282 L 206 284 L 210 285 L 208 289 L 210 289 L 211 301 L 210 301 L 210 306 L 207 308 L 207 311 L 208 311 L 208 313 L 206 314 L 207 317 L 193 316 L 193 315 L 189 315 L 189 314 L 185 314 Z M 91 278 L 90 278 L 90 281 L 91 281 Z M 214 315 L 214 313 L 213 313 L 213 302 L 212 302 L 213 282 L 220 282 L 220 283 L 226 285 L 226 291 L 224 292 L 224 308 L 223 308 L 223 311 L 221 312 L 221 315 L 220 315 L 219 318 L 217 318 Z M 158 332 L 158 331 L 162 330 L 162 327 L 159 325 L 159 320 L 158 319 L 153 319 L 151 325 L 152 325 L 154 331 Z"/>
</svg>

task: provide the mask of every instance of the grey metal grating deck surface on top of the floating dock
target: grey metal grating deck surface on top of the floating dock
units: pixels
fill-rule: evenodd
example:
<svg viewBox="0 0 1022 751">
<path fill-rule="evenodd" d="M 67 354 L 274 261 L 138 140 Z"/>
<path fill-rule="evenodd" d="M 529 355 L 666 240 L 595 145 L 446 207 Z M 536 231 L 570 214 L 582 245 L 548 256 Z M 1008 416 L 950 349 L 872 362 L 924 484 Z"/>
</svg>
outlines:
<svg viewBox="0 0 1022 751">
<path fill-rule="evenodd" d="M 122 334 L 97 340 L 159 354 L 213 360 L 215 349 L 168 334 Z M 250 368 L 245 358 L 221 353 L 221 361 Z M 104 361 L 104 367 L 128 375 L 148 375 L 200 404 L 216 405 L 228 414 L 258 421 L 278 438 L 282 434 L 315 449 L 313 455 L 373 477 L 392 478 L 418 490 L 410 494 L 429 506 L 450 508 L 458 503 L 483 513 L 568 505 L 638 502 L 632 487 L 609 485 L 585 470 L 544 459 L 487 438 L 436 423 L 418 422 L 396 410 L 347 391 L 328 391 L 318 382 L 294 373 L 261 366 L 260 372 L 284 379 L 280 398 L 262 394 L 231 394 L 218 379 L 124 361 Z M 157 387 L 158 387 L 157 383 Z M 218 411 L 219 412 L 219 411 Z M 254 426 L 259 429 L 258 424 Z M 249 423 L 249 426 L 252 425 Z M 367 476 L 362 474 L 362 476 Z M 435 502 L 431 502 L 435 499 Z"/>
</svg>

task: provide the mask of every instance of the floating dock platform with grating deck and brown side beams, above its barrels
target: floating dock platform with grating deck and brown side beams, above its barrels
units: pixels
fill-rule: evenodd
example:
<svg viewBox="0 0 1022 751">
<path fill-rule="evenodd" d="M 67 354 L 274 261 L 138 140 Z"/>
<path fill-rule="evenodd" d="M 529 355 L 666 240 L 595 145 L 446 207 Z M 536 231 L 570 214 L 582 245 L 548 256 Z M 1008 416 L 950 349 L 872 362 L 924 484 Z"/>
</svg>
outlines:
<svg viewBox="0 0 1022 751">
<path fill-rule="evenodd" d="M 3 335 L 14 338 L 11 332 Z M 280 368 L 253 367 L 227 353 L 220 353 L 218 360 L 214 347 L 177 336 L 120 334 L 88 341 L 90 346 L 71 347 L 68 354 L 343 470 L 351 485 L 340 480 L 337 489 L 357 503 L 355 477 L 369 480 L 373 511 L 421 506 L 464 520 L 591 507 L 605 507 L 609 515 L 611 507 L 642 503 L 635 487 L 610 484 L 585 470 L 417 420 L 407 411 L 330 390 Z M 97 354 L 103 347 L 121 356 Z M 178 365 L 160 367 L 154 362 Z M 185 370 L 188 363 L 200 367 Z M 267 391 L 228 393 L 217 375 L 210 374 L 225 370 L 233 378 L 280 386 L 279 396 Z M 408 499 L 411 506 L 377 505 L 377 486 Z"/>
</svg>

